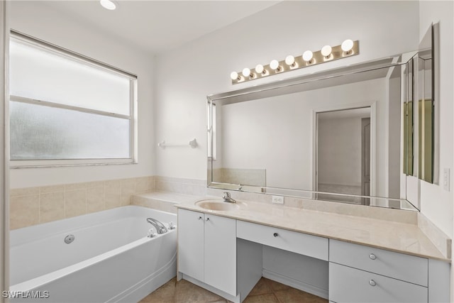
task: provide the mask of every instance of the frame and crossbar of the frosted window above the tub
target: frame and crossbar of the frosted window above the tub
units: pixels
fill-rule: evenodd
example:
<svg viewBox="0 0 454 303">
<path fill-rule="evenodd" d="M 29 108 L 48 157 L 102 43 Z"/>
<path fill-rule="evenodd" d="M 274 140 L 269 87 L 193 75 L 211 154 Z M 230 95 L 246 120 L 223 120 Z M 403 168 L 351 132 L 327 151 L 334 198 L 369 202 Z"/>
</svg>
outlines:
<svg viewBox="0 0 454 303">
<path fill-rule="evenodd" d="M 18 97 L 9 95 L 9 102 L 21 102 L 28 104 L 35 104 L 40 106 L 50 106 L 57 109 L 69 109 L 74 111 L 81 111 L 87 114 L 98 114 L 101 116 L 110 116 L 115 118 L 127 119 L 129 121 L 129 157 L 128 158 L 83 158 L 83 159 L 35 159 L 35 160 L 9 160 L 11 168 L 21 167 L 63 167 L 63 166 L 86 166 L 86 165 L 120 165 L 120 164 L 136 164 L 138 162 L 138 77 L 131 72 L 118 69 L 117 67 L 108 65 L 104 62 L 94 60 L 85 55 L 75 53 L 72 50 L 61 48 L 60 46 L 43 40 L 33 38 L 30 35 L 11 30 L 11 39 L 18 40 L 19 43 L 27 43 L 34 48 L 54 53 L 63 57 L 69 57 L 70 60 L 75 60 L 80 64 L 95 67 L 99 70 L 106 70 L 107 72 L 114 72 L 118 75 L 126 76 L 129 78 L 129 115 L 114 114 L 108 111 L 101 111 L 96 109 L 87 109 L 79 106 L 70 106 L 66 104 L 58 104 L 51 101 L 31 99 L 26 97 Z M 11 123 L 11 122 L 10 122 Z M 9 145 L 8 141 L 8 145 Z M 8 148 L 9 150 L 9 148 Z M 11 155 L 10 155 L 11 158 Z"/>
</svg>

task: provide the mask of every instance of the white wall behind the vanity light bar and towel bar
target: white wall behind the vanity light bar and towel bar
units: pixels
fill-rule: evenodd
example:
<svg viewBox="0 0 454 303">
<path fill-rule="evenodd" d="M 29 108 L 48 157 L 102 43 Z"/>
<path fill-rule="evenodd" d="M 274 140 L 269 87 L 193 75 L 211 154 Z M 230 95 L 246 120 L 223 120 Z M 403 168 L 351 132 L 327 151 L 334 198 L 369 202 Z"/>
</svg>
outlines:
<svg viewBox="0 0 454 303">
<path fill-rule="evenodd" d="M 279 77 L 364 62 L 416 50 L 417 1 L 284 1 L 164 55 L 157 56 L 155 137 L 196 150 L 157 150 L 158 175 L 206 178 L 206 95 Z M 232 86 L 233 70 L 267 64 L 304 50 L 360 40 L 360 55 Z"/>
</svg>

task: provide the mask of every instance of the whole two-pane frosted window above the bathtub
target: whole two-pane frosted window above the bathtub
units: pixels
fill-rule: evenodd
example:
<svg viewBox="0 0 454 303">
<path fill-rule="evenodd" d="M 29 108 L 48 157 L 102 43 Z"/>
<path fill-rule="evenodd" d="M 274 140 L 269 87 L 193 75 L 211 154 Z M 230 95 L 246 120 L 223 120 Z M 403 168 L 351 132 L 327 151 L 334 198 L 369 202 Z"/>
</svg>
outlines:
<svg viewBox="0 0 454 303">
<path fill-rule="evenodd" d="M 137 77 L 12 33 L 11 166 L 136 160 Z"/>
</svg>

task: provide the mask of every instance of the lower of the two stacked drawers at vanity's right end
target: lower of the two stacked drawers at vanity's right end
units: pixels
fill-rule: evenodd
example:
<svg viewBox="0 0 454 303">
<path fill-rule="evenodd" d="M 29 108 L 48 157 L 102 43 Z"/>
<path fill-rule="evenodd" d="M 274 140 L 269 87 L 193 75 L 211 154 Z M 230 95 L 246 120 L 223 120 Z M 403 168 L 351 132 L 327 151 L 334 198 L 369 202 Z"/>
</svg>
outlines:
<svg viewBox="0 0 454 303">
<path fill-rule="evenodd" d="M 428 289 L 420 285 L 330 262 L 329 299 L 337 303 L 427 302 Z"/>
</svg>

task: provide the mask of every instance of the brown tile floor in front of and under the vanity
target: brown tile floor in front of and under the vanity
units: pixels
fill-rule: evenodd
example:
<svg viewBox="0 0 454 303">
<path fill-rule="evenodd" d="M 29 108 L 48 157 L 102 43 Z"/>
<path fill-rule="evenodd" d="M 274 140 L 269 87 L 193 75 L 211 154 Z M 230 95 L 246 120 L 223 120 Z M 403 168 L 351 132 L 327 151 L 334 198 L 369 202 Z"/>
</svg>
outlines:
<svg viewBox="0 0 454 303">
<path fill-rule="evenodd" d="M 191 282 L 173 278 L 139 303 L 227 303 Z M 328 300 L 262 277 L 243 303 L 326 303 Z"/>
</svg>

